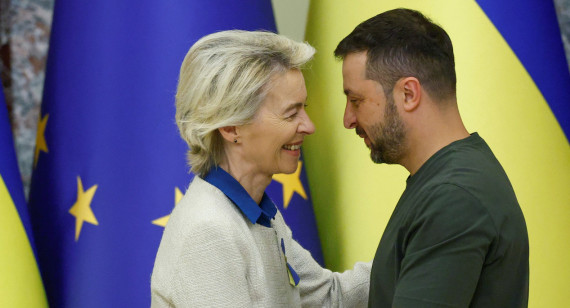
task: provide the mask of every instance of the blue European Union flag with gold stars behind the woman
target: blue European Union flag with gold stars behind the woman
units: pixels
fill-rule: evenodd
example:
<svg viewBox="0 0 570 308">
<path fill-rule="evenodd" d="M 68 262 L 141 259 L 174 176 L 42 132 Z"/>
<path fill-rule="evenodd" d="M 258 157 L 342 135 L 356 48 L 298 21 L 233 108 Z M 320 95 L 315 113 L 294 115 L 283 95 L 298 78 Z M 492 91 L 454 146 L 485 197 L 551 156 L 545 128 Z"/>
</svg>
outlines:
<svg viewBox="0 0 570 308">
<path fill-rule="evenodd" d="M 56 1 L 30 193 L 51 306 L 149 305 L 163 226 L 193 177 L 174 123 L 179 67 L 228 29 L 275 31 L 270 1 Z M 315 235 L 302 175 L 287 207 L 310 211 Z"/>
</svg>

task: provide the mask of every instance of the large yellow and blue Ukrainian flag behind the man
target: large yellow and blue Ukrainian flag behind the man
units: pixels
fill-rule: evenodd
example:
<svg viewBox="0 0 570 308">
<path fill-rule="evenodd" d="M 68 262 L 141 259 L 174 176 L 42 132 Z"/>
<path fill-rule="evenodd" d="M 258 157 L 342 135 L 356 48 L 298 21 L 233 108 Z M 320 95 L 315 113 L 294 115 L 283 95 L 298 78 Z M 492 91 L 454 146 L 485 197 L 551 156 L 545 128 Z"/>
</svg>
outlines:
<svg viewBox="0 0 570 308">
<path fill-rule="evenodd" d="M 311 2 L 307 40 L 319 51 L 307 74 L 317 126 L 306 142 L 314 206 L 328 265 L 372 259 L 404 190 L 400 166 L 375 165 L 344 129 L 338 42 L 360 22 L 405 6 L 442 25 L 454 44 L 457 98 L 505 168 L 527 221 L 531 307 L 570 302 L 570 74 L 550 0 Z"/>
</svg>

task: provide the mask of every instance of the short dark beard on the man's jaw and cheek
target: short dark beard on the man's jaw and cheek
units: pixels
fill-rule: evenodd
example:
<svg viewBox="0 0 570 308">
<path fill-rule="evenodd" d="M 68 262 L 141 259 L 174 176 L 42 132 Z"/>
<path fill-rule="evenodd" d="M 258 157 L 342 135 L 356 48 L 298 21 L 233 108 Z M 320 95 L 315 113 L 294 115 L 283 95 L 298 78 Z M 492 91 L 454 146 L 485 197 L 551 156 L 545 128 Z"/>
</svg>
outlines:
<svg viewBox="0 0 570 308">
<path fill-rule="evenodd" d="M 404 156 L 406 128 L 391 97 L 386 100 L 384 123 L 374 124 L 370 128 L 368 138 L 370 139 L 370 158 L 373 162 L 396 164 Z"/>
</svg>

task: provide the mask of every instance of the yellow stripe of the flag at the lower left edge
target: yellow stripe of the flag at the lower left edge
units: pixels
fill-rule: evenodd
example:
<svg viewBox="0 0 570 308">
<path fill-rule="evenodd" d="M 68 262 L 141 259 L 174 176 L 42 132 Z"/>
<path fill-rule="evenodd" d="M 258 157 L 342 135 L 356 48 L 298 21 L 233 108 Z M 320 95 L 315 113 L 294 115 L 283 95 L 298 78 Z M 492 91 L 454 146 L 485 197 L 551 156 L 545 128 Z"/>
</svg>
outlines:
<svg viewBox="0 0 570 308">
<path fill-rule="evenodd" d="M 36 259 L 0 175 L 0 307 L 47 307 Z"/>
</svg>

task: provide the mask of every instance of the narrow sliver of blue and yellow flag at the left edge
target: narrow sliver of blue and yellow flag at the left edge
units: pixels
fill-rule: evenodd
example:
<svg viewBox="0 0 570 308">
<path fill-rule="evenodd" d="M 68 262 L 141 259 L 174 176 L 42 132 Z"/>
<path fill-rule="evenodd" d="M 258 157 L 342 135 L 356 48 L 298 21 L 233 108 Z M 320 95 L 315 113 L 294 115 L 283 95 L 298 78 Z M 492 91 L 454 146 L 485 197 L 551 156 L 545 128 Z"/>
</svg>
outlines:
<svg viewBox="0 0 570 308">
<path fill-rule="evenodd" d="M 0 88 L 0 307 L 47 307 Z"/>
</svg>

